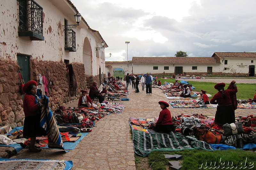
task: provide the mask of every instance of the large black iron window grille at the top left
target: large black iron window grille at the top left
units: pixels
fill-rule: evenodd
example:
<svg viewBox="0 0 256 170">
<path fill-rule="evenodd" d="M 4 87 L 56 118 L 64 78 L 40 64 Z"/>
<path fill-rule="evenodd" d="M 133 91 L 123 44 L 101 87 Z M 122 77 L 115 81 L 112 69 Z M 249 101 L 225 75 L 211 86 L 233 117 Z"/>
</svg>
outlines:
<svg viewBox="0 0 256 170">
<path fill-rule="evenodd" d="M 43 8 L 34 0 L 19 2 L 19 36 L 29 36 L 31 40 L 44 40 Z"/>
</svg>

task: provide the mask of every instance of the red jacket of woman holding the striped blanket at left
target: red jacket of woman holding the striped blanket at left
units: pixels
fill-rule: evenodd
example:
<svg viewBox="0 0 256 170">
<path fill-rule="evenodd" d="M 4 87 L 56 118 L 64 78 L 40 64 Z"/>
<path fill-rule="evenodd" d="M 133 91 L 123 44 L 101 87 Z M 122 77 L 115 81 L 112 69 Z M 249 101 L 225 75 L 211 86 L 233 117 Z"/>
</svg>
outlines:
<svg viewBox="0 0 256 170">
<path fill-rule="evenodd" d="M 34 116 L 39 114 L 39 109 L 36 104 L 36 97 L 31 94 L 26 94 L 23 99 L 23 111 L 25 116 Z"/>
</svg>

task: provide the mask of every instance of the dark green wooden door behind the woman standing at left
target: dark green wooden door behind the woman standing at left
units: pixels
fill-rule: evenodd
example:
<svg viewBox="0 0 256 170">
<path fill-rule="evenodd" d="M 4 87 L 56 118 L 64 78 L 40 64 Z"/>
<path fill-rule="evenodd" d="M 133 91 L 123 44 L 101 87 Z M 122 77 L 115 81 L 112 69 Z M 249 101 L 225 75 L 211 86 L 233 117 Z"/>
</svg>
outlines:
<svg viewBox="0 0 256 170">
<path fill-rule="evenodd" d="M 30 80 L 29 56 L 18 54 L 17 62 L 20 66 L 20 74 L 23 77 L 24 82 L 27 83 Z"/>
</svg>

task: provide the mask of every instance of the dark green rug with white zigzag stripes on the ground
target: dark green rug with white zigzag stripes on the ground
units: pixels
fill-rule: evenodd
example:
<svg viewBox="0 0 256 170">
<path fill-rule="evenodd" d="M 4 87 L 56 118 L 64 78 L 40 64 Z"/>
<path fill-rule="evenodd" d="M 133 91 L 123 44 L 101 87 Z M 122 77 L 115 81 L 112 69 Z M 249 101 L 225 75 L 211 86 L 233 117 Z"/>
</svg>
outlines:
<svg viewBox="0 0 256 170">
<path fill-rule="evenodd" d="M 182 134 L 150 134 L 140 130 L 132 130 L 132 142 L 134 152 L 142 157 L 152 151 L 174 151 L 184 149 L 204 149 L 213 151 L 211 146 L 204 141 L 199 141 L 195 136 L 184 136 Z"/>
</svg>

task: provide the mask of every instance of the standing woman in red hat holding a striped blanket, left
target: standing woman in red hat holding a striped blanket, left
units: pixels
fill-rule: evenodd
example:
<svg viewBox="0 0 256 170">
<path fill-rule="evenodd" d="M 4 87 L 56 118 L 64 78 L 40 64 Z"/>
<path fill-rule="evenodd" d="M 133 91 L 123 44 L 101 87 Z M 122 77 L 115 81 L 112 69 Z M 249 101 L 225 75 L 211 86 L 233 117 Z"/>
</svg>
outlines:
<svg viewBox="0 0 256 170">
<path fill-rule="evenodd" d="M 36 96 L 36 82 L 29 81 L 23 87 L 25 92 L 23 111 L 25 113 L 23 136 L 30 137 L 29 151 L 40 152 L 42 149 L 35 146 L 36 137 L 46 136 L 44 128 L 40 126 L 41 107 L 44 100 Z"/>
</svg>

